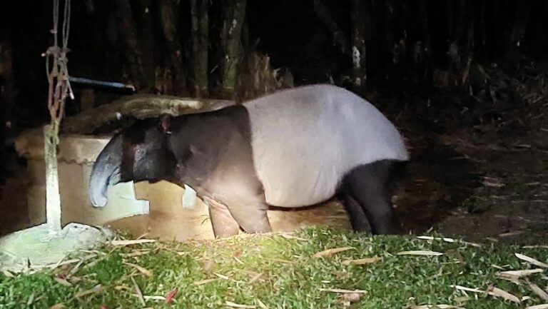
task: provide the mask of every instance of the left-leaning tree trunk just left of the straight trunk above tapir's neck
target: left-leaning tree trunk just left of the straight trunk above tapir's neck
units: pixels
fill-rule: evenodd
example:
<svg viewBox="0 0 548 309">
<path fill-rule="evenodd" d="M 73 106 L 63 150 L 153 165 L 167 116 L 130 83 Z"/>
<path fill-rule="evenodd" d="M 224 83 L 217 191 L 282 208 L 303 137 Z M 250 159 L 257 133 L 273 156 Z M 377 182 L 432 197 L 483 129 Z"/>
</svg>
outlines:
<svg viewBox="0 0 548 309">
<path fill-rule="evenodd" d="M 160 18 L 163 36 L 165 36 L 168 44 L 171 66 L 173 67 L 175 92 L 178 96 L 188 95 L 186 71 L 183 66 L 183 50 L 181 49 L 177 31 L 176 15 L 173 14 L 173 6 L 171 6 L 170 0 L 160 0 Z"/>
</svg>

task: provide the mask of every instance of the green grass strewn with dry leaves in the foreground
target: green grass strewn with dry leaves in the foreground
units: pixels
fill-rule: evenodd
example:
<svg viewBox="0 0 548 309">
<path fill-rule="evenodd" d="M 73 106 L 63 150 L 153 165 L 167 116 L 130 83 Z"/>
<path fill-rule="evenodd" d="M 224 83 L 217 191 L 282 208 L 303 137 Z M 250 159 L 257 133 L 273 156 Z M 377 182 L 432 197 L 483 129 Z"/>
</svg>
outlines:
<svg viewBox="0 0 548 309">
<path fill-rule="evenodd" d="M 342 252 L 315 258 L 330 248 Z M 398 255 L 426 250 L 442 255 Z M 103 245 L 35 273 L 0 274 L 0 308 L 526 308 L 548 303 L 525 280 L 501 270 L 539 268 L 514 253 L 548 261 L 547 248 L 413 237 L 370 236 L 328 228 L 287 235 L 240 235 L 189 243 Z M 353 265 L 347 260 L 379 257 Z M 74 257 L 71 257 L 74 258 Z M 543 273 L 527 280 L 545 289 Z M 452 285 L 512 293 L 521 304 Z M 143 295 L 141 297 L 138 290 Z M 166 303 L 168 293 L 176 294 Z M 338 293 L 325 289 L 357 290 Z M 542 293 L 541 293 L 542 294 Z M 152 298 L 151 298 L 152 297 Z M 169 297 L 168 297 L 169 298 Z M 103 306 L 103 307 L 101 307 Z M 245 307 L 247 306 L 247 307 Z"/>
</svg>

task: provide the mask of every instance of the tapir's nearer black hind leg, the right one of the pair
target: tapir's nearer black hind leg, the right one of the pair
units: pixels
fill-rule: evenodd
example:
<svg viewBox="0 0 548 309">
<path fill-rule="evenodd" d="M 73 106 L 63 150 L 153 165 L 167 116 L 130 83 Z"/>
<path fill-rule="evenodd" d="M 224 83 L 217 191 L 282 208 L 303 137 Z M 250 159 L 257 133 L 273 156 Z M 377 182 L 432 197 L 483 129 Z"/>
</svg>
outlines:
<svg viewBox="0 0 548 309">
<path fill-rule="evenodd" d="M 373 234 L 400 233 L 400 223 L 390 201 L 390 173 L 394 161 L 359 166 L 343 180 L 343 188 L 362 206 Z"/>
</svg>

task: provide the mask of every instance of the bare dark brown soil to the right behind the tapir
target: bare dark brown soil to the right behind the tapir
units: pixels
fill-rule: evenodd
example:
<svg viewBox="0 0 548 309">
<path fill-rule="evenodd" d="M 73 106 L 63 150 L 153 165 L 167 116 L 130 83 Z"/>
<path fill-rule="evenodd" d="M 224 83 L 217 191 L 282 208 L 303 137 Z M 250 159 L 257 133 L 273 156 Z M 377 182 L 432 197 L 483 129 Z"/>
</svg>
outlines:
<svg viewBox="0 0 548 309">
<path fill-rule="evenodd" d="M 412 148 L 396 188 L 405 227 L 477 242 L 548 243 L 548 151 L 535 146 L 548 133 L 531 128 L 517 137 L 487 129 L 439 135 Z"/>
</svg>

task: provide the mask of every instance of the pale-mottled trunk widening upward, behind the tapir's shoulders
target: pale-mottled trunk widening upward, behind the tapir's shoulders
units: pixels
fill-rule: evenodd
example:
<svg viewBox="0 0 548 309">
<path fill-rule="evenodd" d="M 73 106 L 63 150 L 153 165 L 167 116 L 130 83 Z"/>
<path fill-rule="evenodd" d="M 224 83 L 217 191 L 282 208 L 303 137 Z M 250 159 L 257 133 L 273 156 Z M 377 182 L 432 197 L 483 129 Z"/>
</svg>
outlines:
<svg viewBox="0 0 548 309">
<path fill-rule="evenodd" d="M 247 0 L 230 0 L 224 2 L 223 28 L 221 44 L 223 45 L 223 90 L 222 96 L 232 98 L 236 83 L 236 68 L 242 51 L 241 31 Z"/>
</svg>

